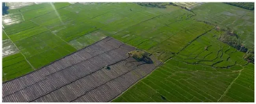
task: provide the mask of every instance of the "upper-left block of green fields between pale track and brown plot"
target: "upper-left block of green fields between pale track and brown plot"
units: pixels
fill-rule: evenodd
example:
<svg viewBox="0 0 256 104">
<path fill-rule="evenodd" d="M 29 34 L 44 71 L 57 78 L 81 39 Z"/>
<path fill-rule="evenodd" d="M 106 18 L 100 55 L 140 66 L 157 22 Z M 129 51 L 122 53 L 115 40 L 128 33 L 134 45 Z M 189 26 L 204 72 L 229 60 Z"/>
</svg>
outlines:
<svg viewBox="0 0 256 104">
<path fill-rule="evenodd" d="M 9 9 L 3 26 L 32 67 L 38 69 L 115 32 L 179 9 L 131 3 L 42 3 Z"/>
</svg>

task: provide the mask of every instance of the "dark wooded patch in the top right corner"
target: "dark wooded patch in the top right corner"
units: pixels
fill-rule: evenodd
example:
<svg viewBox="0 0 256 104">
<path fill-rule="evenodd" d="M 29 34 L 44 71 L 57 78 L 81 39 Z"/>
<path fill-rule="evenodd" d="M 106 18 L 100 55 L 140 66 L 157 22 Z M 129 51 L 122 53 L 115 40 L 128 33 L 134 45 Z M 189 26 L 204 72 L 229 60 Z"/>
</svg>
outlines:
<svg viewBox="0 0 256 104">
<path fill-rule="evenodd" d="M 234 5 L 244 9 L 254 10 L 254 2 L 225 2 L 226 4 Z"/>
</svg>

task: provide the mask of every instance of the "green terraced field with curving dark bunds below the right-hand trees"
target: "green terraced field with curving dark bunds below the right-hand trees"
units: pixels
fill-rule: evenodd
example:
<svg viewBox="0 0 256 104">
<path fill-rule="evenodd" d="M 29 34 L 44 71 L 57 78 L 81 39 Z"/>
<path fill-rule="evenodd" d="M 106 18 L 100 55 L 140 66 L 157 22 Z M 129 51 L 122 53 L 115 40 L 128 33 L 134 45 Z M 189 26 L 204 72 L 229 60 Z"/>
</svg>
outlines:
<svg viewBox="0 0 256 104">
<path fill-rule="evenodd" d="M 177 54 L 177 59 L 180 61 L 205 65 L 218 68 L 228 68 L 236 66 L 236 64 L 246 64 L 243 60 L 243 53 L 235 48 L 217 40 L 223 32 L 211 30 L 197 40 L 193 41 L 187 48 Z M 205 50 L 205 47 L 208 47 Z M 233 57 L 238 55 L 236 57 Z"/>
</svg>

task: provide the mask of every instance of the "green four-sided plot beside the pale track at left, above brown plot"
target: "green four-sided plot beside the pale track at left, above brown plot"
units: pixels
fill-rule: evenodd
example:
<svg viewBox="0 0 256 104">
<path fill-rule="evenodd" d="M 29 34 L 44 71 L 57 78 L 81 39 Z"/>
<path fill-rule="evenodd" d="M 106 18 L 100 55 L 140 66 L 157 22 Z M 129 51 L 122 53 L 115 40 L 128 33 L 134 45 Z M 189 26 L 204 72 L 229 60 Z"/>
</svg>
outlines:
<svg viewBox="0 0 256 104">
<path fill-rule="evenodd" d="M 49 31 L 35 33 L 34 36 L 16 41 L 15 44 L 35 68 L 45 66 L 76 51 Z"/>
</svg>

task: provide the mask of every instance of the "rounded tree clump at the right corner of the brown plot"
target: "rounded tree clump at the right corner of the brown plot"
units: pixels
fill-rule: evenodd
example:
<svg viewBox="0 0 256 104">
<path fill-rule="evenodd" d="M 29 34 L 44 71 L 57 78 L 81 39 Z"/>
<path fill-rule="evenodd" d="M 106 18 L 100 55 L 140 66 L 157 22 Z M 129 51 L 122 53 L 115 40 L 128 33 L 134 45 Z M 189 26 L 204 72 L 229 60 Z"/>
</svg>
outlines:
<svg viewBox="0 0 256 104">
<path fill-rule="evenodd" d="M 143 50 L 134 50 L 128 53 L 129 57 L 134 57 L 137 61 L 144 61 L 146 63 L 153 63 L 153 61 L 148 57 L 150 54 Z"/>
</svg>

